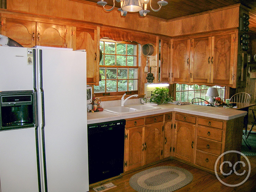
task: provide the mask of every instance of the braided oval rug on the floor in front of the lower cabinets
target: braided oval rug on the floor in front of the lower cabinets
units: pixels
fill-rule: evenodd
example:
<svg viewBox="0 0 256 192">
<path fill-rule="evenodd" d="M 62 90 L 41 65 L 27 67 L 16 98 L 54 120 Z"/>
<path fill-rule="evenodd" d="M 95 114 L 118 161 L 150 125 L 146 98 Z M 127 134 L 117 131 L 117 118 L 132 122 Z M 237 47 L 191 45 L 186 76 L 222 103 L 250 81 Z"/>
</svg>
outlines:
<svg viewBox="0 0 256 192">
<path fill-rule="evenodd" d="M 174 166 L 159 166 L 133 175 L 130 186 L 138 192 L 171 192 L 180 189 L 193 180 L 186 169 Z"/>
</svg>

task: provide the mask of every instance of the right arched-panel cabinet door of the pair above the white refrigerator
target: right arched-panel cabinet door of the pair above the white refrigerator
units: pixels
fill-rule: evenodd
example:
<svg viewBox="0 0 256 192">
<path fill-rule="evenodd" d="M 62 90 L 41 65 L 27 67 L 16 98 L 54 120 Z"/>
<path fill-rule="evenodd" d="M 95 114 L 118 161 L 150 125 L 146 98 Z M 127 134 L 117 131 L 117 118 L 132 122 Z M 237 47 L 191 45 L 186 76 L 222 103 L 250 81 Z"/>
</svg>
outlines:
<svg viewBox="0 0 256 192">
<path fill-rule="evenodd" d="M 37 23 L 36 44 L 47 47 L 66 48 L 67 27 L 51 23 Z"/>
</svg>

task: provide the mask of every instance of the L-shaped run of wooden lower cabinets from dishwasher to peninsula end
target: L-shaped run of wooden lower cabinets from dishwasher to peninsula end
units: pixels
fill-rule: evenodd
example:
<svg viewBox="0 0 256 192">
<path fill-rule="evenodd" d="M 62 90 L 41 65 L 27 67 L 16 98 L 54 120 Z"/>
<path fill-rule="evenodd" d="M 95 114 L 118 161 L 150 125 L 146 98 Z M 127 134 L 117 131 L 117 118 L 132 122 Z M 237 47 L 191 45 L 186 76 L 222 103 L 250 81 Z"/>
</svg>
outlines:
<svg viewBox="0 0 256 192">
<path fill-rule="evenodd" d="M 180 112 L 127 119 L 124 171 L 176 158 L 215 173 L 218 157 L 230 150 L 241 151 L 243 117 L 220 120 Z M 240 139 L 238 139 L 240 138 Z M 220 158 L 219 166 L 240 161 L 240 155 L 229 153 Z M 228 164 L 223 172 L 230 172 Z"/>
</svg>

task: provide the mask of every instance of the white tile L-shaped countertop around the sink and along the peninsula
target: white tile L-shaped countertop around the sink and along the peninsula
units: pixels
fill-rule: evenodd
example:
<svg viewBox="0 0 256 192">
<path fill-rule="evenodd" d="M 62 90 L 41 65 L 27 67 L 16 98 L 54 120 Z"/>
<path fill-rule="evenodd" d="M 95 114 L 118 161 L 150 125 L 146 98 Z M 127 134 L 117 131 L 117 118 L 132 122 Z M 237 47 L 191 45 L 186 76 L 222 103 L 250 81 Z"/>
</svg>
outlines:
<svg viewBox="0 0 256 192">
<path fill-rule="evenodd" d="M 163 104 L 163 105 L 158 105 L 157 107 L 160 107 L 161 109 L 155 110 L 155 111 L 144 111 L 144 112 L 137 112 L 137 113 L 131 113 L 131 114 L 122 114 L 122 115 L 110 113 L 107 111 L 87 113 L 87 124 L 102 123 L 106 121 L 128 119 L 128 118 L 141 117 L 146 115 L 156 115 L 156 114 L 172 112 L 172 111 L 187 113 L 191 115 L 199 115 L 203 117 L 212 117 L 212 118 L 222 119 L 222 120 L 230 120 L 237 117 L 245 116 L 247 114 L 246 111 L 234 110 L 230 108 L 210 107 L 210 106 L 201 106 L 201 105 L 193 105 L 193 104 L 188 104 L 188 105 Z"/>
</svg>

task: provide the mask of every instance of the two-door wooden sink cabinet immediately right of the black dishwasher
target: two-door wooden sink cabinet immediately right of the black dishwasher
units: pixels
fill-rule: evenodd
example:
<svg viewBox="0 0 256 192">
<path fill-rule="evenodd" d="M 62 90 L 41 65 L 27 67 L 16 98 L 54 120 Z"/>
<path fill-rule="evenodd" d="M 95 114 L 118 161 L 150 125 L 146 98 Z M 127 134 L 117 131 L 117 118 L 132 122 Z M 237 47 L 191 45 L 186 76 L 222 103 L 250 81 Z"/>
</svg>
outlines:
<svg viewBox="0 0 256 192">
<path fill-rule="evenodd" d="M 148 119 L 161 122 L 144 125 Z M 156 120 L 156 121 L 158 121 Z M 124 171 L 147 165 L 163 158 L 163 115 L 126 120 Z"/>
</svg>

